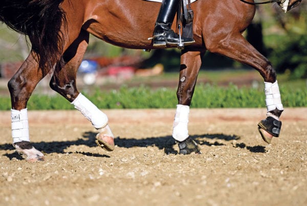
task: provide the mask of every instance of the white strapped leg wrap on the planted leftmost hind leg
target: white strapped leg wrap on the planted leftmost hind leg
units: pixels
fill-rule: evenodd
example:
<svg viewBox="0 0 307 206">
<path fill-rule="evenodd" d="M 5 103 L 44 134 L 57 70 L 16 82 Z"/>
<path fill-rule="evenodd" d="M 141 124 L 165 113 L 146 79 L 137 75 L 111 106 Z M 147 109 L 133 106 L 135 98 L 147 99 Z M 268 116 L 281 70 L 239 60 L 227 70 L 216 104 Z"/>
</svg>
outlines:
<svg viewBox="0 0 307 206">
<path fill-rule="evenodd" d="M 11 109 L 13 144 L 21 141 L 30 142 L 28 109 Z"/>
</svg>

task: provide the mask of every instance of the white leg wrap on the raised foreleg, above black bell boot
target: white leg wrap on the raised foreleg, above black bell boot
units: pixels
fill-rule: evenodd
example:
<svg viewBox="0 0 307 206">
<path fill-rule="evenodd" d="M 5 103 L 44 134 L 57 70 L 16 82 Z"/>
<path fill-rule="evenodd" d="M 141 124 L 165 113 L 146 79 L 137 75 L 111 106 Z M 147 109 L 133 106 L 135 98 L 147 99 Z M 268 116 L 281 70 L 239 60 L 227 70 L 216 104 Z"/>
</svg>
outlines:
<svg viewBox="0 0 307 206">
<path fill-rule="evenodd" d="M 265 82 L 266 105 L 268 111 L 283 110 L 277 80 L 274 83 Z"/>
</svg>

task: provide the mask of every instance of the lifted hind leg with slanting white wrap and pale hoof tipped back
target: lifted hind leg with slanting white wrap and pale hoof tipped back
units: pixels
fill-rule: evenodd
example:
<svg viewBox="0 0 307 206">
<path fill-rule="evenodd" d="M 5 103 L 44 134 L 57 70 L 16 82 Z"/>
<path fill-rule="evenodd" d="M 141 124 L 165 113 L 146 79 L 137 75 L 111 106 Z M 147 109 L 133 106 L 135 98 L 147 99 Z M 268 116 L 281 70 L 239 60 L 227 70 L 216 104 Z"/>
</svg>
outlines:
<svg viewBox="0 0 307 206">
<path fill-rule="evenodd" d="M 50 87 L 69 100 L 85 118 L 91 121 L 99 131 L 96 143 L 107 151 L 114 150 L 114 136 L 108 126 L 107 116 L 99 110 L 89 99 L 79 93 L 76 86 L 76 75 L 87 48 L 89 33 L 81 30 L 78 38 L 65 51 L 63 57 L 65 66 L 53 75 Z"/>
</svg>

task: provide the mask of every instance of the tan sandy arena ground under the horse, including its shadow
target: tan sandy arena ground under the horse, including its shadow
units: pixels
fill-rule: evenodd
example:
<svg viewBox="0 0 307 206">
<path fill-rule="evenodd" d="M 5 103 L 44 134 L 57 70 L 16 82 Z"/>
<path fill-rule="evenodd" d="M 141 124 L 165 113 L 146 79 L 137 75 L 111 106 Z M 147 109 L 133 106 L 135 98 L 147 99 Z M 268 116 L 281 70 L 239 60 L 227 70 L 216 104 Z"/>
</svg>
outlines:
<svg viewBox="0 0 307 206">
<path fill-rule="evenodd" d="M 307 108 L 286 108 L 271 145 L 257 123 L 266 109 L 191 109 L 201 155 L 179 155 L 174 109 L 105 110 L 116 148 L 95 145 L 78 111 L 29 111 L 30 136 L 46 161 L 11 145 L 0 111 L 0 205 L 306 205 Z"/>
</svg>

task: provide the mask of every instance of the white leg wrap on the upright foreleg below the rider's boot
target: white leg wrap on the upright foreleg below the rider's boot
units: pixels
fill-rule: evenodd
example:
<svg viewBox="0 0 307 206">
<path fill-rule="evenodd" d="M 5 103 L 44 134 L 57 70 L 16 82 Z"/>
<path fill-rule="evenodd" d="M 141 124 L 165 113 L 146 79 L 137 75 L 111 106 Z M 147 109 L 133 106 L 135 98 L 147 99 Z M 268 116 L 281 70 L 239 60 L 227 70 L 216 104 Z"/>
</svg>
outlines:
<svg viewBox="0 0 307 206">
<path fill-rule="evenodd" d="M 178 104 L 173 123 L 172 136 L 175 140 L 182 142 L 189 136 L 188 122 L 189 122 L 190 107 L 187 105 Z"/>
</svg>

